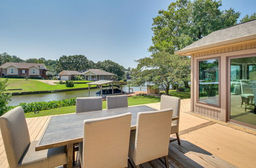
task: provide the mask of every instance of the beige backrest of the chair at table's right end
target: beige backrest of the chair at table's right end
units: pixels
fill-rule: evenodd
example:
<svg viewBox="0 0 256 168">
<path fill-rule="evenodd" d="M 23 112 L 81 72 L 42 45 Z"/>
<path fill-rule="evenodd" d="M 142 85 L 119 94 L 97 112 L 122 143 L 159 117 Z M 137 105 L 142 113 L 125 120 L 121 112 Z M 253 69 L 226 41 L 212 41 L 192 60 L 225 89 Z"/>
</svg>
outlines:
<svg viewBox="0 0 256 168">
<path fill-rule="evenodd" d="M 173 96 L 161 96 L 160 109 L 172 108 L 174 109 L 173 115 L 180 117 L 180 98 Z M 173 121 L 174 124 L 179 125 L 179 120 Z"/>
</svg>

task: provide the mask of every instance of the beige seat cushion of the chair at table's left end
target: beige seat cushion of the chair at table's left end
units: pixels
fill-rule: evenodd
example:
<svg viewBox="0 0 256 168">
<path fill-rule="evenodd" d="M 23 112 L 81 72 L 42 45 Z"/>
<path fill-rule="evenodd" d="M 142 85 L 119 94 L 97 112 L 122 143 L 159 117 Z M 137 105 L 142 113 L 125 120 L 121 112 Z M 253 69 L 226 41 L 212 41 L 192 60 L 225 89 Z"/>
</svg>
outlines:
<svg viewBox="0 0 256 168">
<path fill-rule="evenodd" d="M 35 151 L 37 141 L 31 142 L 22 159 L 19 167 L 57 167 L 67 164 L 67 154 L 65 147 L 52 148 L 48 150 Z"/>
</svg>

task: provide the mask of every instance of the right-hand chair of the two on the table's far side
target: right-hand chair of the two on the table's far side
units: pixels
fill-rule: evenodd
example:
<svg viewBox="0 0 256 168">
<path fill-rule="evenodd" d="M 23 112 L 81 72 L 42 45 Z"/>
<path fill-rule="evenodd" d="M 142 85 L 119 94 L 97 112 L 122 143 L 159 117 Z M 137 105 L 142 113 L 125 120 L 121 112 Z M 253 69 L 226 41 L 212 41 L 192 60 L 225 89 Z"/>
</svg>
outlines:
<svg viewBox="0 0 256 168">
<path fill-rule="evenodd" d="M 106 96 L 106 109 L 128 107 L 127 95 Z"/>
</svg>

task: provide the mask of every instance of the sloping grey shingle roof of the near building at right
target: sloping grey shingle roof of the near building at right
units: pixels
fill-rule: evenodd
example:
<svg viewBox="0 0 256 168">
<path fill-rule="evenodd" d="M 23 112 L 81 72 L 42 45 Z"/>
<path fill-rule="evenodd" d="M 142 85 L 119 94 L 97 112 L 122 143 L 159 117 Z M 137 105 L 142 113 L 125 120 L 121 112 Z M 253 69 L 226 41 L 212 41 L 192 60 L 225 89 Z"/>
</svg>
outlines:
<svg viewBox="0 0 256 168">
<path fill-rule="evenodd" d="M 176 51 L 175 54 L 186 54 L 186 52 L 191 52 L 193 50 L 196 51 L 200 49 L 221 46 L 228 41 L 230 41 L 230 43 L 234 43 L 231 42 L 231 40 L 234 41 L 235 39 L 237 39 L 238 42 L 251 40 L 246 38 L 250 36 L 252 39 L 256 39 L 255 35 L 256 19 L 212 32 L 209 35 L 203 37 L 202 39 L 186 46 L 185 48 Z"/>
</svg>

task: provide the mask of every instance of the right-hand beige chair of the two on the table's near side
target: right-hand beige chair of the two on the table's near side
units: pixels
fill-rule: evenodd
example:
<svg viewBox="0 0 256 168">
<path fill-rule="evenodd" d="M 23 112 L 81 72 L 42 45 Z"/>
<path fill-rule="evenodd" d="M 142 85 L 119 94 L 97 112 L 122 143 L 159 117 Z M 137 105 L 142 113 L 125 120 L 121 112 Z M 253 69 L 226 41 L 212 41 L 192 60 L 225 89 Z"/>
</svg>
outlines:
<svg viewBox="0 0 256 168">
<path fill-rule="evenodd" d="M 169 167 L 172 116 L 171 108 L 138 113 L 136 130 L 131 131 L 129 146 L 129 159 L 136 168 L 160 157 L 165 157 L 166 167 Z"/>
</svg>

